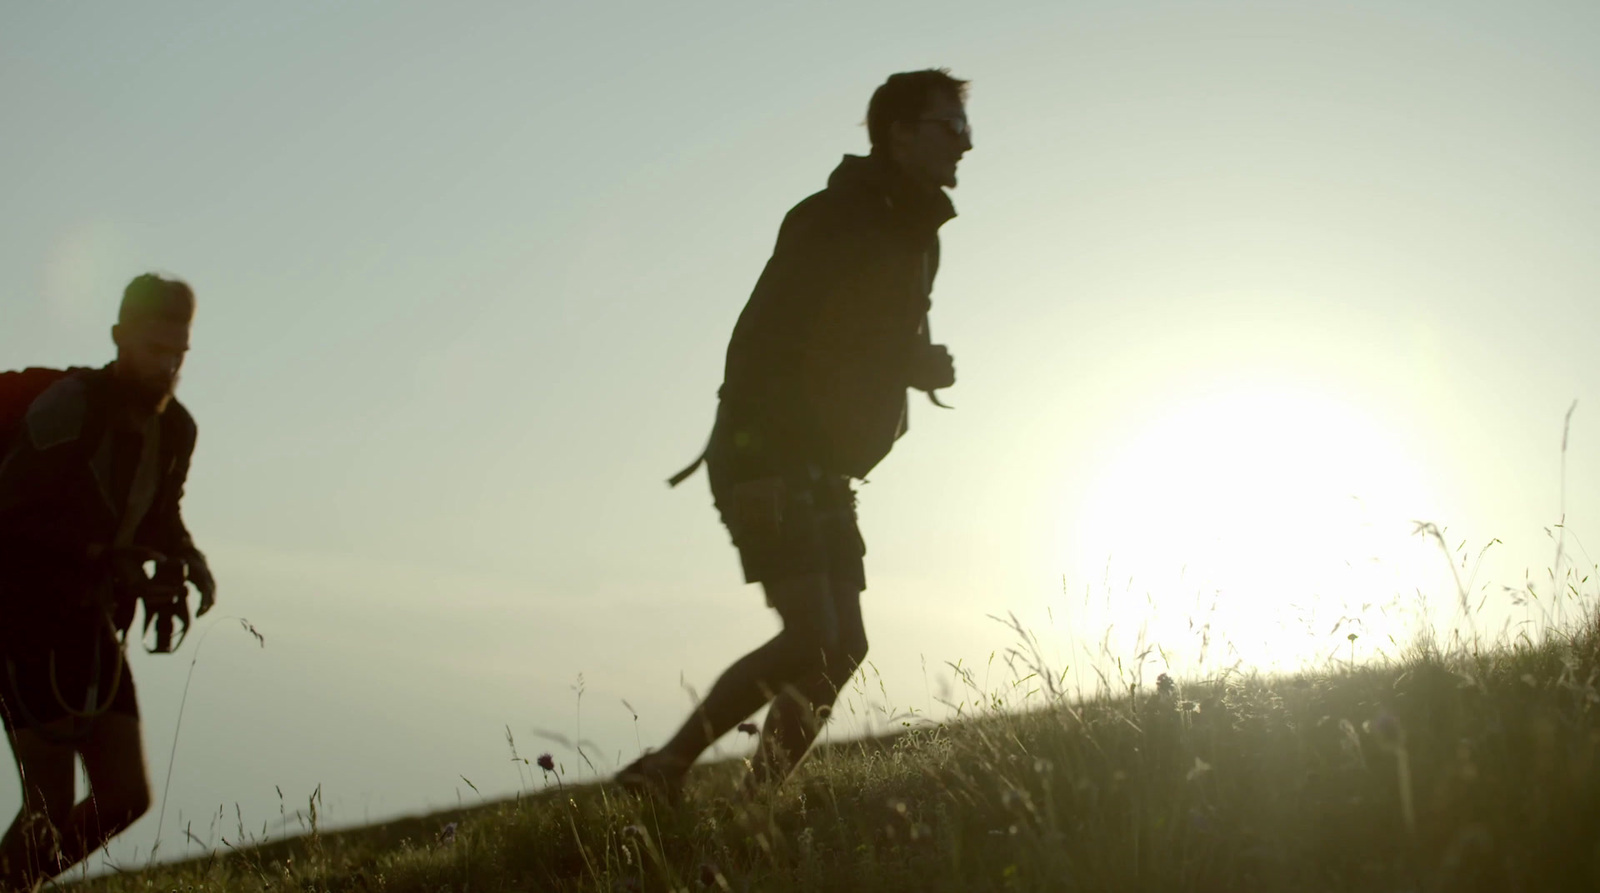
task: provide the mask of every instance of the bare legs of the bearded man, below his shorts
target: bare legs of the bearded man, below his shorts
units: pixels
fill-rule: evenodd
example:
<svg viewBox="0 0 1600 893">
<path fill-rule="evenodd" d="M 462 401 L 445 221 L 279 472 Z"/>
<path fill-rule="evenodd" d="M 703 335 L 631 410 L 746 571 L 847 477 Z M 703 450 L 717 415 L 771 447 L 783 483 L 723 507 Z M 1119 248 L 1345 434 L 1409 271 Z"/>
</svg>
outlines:
<svg viewBox="0 0 1600 893">
<path fill-rule="evenodd" d="M 67 728 L 66 722 L 62 720 L 62 730 Z M 24 797 L 24 813 L 0 843 L 0 859 L 21 866 L 21 871 L 6 867 L 0 874 L 13 887 L 27 888 L 35 880 L 56 877 L 126 831 L 150 808 L 144 741 L 134 717 L 101 715 L 90 735 L 75 746 L 51 744 L 37 731 L 18 731 L 11 738 L 11 747 L 18 755 L 24 786 L 37 791 L 40 802 L 40 808 L 30 808 Z M 70 805 L 74 795 L 74 752 L 83 757 L 90 795 L 64 810 L 62 805 Z M 38 815 L 50 819 L 53 834 L 38 834 L 38 823 L 24 818 Z"/>
</svg>

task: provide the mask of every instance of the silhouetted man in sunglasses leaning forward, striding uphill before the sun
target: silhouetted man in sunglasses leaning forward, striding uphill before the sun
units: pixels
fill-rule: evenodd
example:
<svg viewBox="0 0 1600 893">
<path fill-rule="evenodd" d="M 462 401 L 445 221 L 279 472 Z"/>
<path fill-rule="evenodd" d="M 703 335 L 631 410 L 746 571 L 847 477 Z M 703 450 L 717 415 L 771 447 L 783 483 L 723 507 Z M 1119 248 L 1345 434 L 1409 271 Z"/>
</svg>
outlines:
<svg viewBox="0 0 1600 893">
<path fill-rule="evenodd" d="M 739 658 L 672 739 L 624 767 L 635 792 L 680 794 L 717 738 L 771 703 L 746 787 L 789 776 L 867 653 L 866 546 L 851 479 L 906 432 L 907 387 L 930 397 L 955 365 L 928 334 L 944 190 L 971 147 L 966 82 L 896 74 L 872 94 L 872 152 L 846 155 L 827 189 L 778 230 L 728 344 L 717 422 L 701 459 L 712 498 L 782 631 Z M 934 402 L 938 402 L 934 398 Z"/>
</svg>

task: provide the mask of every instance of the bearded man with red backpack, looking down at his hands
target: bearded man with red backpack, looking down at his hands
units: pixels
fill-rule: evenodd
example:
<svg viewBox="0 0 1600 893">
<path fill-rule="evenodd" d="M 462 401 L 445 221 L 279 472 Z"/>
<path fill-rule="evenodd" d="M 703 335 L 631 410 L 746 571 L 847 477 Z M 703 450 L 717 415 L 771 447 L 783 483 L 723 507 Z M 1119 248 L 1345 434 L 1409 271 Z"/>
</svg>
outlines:
<svg viewBox="0 0 1600 893">
<path fill-rule="evenodd" d="M 195 422 L 173 389 L 194 309 L 189 285 L 141 275 L 112 326 L 115 362 L 0 374 L 0 398 L 21 403 L 0 418 L 0 719 L 22 781 L 0 890 L 59 875 L 149 808 L 122 635 L 144 602 L 170 650 L 184 584 L 202 615 L 216 599 L 179 514 Z M 90 784 L 77 805 L 74 757 Z"/>
</svg>

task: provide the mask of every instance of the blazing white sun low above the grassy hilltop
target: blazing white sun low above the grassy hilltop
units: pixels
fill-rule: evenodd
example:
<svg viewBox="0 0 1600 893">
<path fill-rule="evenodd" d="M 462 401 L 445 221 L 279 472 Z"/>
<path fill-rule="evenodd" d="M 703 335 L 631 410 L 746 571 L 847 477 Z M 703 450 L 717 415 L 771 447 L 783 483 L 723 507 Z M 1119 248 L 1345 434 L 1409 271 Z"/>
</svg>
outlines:
<svg viewBox="0 0 1600 893">
<path fill-rule="evenodd" d="M 1190 672 L 1394 653 L 1437 573 L 1411 536 L 1422 467 L 1381 424 L 1309 389 L 1234 389 L 1118 445 L 1066 525 L 1110 648 Z M 1430 563 L 1432 562 L 1432 563 Z M 1358 640 L 1352 643 L 1349 634 Z"/>
</svg>

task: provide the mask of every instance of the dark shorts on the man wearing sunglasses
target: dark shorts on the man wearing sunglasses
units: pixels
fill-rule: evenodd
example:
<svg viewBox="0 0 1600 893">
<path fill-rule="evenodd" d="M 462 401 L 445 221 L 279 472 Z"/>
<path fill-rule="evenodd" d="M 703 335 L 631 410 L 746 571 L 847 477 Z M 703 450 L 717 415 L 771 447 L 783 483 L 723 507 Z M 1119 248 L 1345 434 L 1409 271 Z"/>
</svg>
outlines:
<svg viewBox="0 0 1600 893">
<path fill-rule="evenodd" d="M 784 511 L 776 536 L 752 536 L 739 530 L 726 506 L 733 483 L 707 469 L 712 499 L 733 544 L 739 549 L 746 583 L 826 573 L 835 584 L 864 591 L 867 546 L 856 525 L 856 493 L 850 479 L 819 472 L 784 475 Z"/>
</svg>

